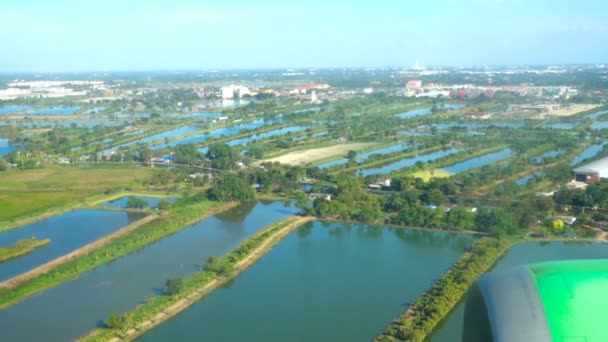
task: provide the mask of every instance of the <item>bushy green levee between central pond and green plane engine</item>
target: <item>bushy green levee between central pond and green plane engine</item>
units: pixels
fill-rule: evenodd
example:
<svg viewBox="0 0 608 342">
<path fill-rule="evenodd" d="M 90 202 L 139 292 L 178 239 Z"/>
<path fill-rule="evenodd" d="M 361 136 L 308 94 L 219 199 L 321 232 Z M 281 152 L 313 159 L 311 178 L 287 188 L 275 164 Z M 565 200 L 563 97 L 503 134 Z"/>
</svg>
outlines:
<svg viewBox="0 0 608 342">
<path fill-rule="evenodd" d="M 492 267 L 512 245 L 511 241 L 482 238 L 475 242 L 430 290 L 387 326 L 377 342 L 421 342 L 454 308 L 479 276 Z"/>
</svg>

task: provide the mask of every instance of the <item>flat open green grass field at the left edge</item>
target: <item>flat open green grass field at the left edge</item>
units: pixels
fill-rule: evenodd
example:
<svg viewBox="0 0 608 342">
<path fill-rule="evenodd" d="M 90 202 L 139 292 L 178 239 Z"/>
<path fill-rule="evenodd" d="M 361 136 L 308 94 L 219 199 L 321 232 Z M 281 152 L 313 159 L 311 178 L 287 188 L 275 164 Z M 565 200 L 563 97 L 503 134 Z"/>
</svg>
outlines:
<svg viewBox="0 0 608 342">
<path fill-rule="evenodd" d="M 153 172 L 144 167 L 46 167 L 0 173 L 0 226 L 2 222 L 84 201 L 108 189 L 141 186 Z"/>
</svg>

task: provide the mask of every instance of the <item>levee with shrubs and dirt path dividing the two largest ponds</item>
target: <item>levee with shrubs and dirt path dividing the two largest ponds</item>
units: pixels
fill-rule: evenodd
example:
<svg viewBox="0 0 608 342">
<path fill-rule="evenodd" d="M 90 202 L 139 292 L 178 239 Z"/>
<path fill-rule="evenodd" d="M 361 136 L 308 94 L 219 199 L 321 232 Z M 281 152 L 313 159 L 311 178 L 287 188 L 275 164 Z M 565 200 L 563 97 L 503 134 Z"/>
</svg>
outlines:
<svg viewBox="0 0 608 342">
<path fill-rule="evenodd" d="M 145 303 L 124 314 L 123 318 L 127 318 L 124 327 L 95 329 L 77 341 L 131 341 L 143 335 L 236 277 L 287 234 L 313 219 L 292 216 L 264 228 L 226 256 L 216 259 L 215 267 L 203 267 L 201 271 L 185 278 L 177 293 L 150 297 Z"/>
</svg>

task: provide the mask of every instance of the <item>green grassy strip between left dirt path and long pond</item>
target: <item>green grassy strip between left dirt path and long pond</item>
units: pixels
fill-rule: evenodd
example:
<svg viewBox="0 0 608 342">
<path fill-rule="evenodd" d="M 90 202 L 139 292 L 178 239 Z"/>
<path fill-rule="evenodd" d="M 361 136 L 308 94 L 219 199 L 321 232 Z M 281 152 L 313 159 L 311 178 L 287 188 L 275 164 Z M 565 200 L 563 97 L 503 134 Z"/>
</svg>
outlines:
<svg viewBox="0 0 608 342">
<path fill-rule="evenodd" d="M 234 202 L 222 205 L 218 202 L 203 201 L 176 206 L 159 215 L 157 219 L 133 229 L 128 234 L 111 239 L 99 248 L 91 248 L 87 253 L 62 262 L 48 272 L 26 279 L 14 287 L 0 288 L 0 309 L 65 281 L 75 279 L 85 271 L 132 253 L 168 235 L 175 234 L 206 216 L 236 205 L 237 203 Z"/>
</svg>

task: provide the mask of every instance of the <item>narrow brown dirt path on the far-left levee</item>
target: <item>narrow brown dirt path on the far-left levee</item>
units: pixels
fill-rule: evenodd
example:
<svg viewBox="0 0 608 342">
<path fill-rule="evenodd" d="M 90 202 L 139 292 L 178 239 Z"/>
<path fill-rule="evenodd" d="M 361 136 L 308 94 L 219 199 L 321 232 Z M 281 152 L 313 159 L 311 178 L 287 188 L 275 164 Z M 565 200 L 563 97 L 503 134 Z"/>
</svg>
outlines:
<svg viewBox="0 0 608 342">
<path fill-rule="evenodd" d="M 142 225 L 144 225 L 148 222 L 151 222 L 153 220 L 156 220 L 159 217 L 160 216 L 158 216 L 156 214 L 146 216 L 141 220 L 135 221 L 129 225 L 124 226 L 123 228 L 113 232 L 112 234 L 106 235 L 106 236 L 102 237 L 101 239 L 95 240 L 68 254 L 65 254 L 54 260 L 51 260 L 51 261 L 47 262 L 46 264 L 40 265 L 30 271 L 22 273 L 16 277 L 13 277 L 11 279 L 0 282 L 0 288 L 13 288 L 13 287 L 23 283 L 26 280 L 29 280 L 29 279 L 35 278 L 41 274 L 47 273 L 47 272 L 53 270 L 54 268 L 58 267 L 59 265 L 62 265 L 66 262 L 76 259 L 82 255 L 91 253 L 92 251 L 108 244 L 113 239 L 130 234 L 131 232 L 135 231 Z"/>
</svg>

